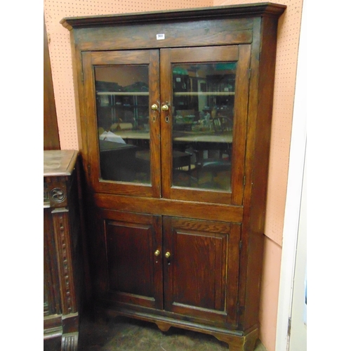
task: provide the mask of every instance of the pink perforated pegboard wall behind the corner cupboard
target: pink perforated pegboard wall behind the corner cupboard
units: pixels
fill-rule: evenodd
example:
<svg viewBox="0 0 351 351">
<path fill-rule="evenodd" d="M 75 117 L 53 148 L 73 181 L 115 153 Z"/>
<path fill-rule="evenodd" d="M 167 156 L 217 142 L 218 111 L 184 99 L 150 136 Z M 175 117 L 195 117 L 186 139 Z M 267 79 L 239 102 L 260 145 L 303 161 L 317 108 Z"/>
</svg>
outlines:
<svg viewBox="0 0 351 351">
<path fill-rule="evenodd" d="M 69 32 L 60 25 L 64 17 L 162 11 L 230 4 L 248 4 L 262 0 L 44 0 L 53 72 L 58 128 L 62 149 L 78 150 Z M 274 351 L 282 233 L 288 178 L 289 147 L 293 117 L 298 41 L 303 0 L 281 0 L 286 12 L 279 20 L 276 79 L 272 121 L 272 142 L 265 223 L 265 255 L 260 305 L 260 339 L 268 351 Z"/>
</svg>

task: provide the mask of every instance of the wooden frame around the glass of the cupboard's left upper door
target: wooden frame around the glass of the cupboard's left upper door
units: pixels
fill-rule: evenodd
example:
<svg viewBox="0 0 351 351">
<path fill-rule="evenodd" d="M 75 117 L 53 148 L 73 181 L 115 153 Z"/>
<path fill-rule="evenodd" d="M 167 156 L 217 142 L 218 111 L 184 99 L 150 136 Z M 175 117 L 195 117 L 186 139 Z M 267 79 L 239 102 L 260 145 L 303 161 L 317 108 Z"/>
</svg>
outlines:
<svg viewBox="0 0 351 351">
<path fill-rule="evenodd" d="M 160 168 L 160 131 L 159 131 L 159 112 L 151 110 L 150 107 L 150 162 L 152 185 L 131 185 L 128 183 L 115 183 L 110 180 L 102 180 L 100 175 L 100 156 L 98 138 L 98 125 L 95 121 L 95 80 L 94 65 L 99 67 L 109 65 L 148 65 L 149 67 L 149 86 L 150 86 L 150 106 L 157 102 L 159 105 L 159 54 L 155 51 L 109 51 L 83 53 L 84 67 L 84 87 L 86 94 L 86 133 L 88 143 L 88 173 L 91 177 L 92 187 L 95 192 L 108 192 L 114 194 L 133 194 L 143 197 L 161 196 L 161 168 Z M 96 161 L 98 160 L 98 161 Z M 118 165 L 116 164 L 116 167 Z"/>
</svg>

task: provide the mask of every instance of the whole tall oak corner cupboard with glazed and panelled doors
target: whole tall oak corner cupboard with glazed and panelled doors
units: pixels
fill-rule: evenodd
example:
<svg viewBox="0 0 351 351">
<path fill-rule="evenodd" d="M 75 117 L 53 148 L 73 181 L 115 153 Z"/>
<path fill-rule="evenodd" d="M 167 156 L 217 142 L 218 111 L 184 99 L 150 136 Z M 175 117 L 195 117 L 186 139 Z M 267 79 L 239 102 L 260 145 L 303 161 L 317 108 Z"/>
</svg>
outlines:
<svg viewBox="0 0 351 351">
<path fill-rule="evenodd" d="M 253 350 L 285 8 L 62 19 L 72 39 L 98 315 Z"/>
</svg>

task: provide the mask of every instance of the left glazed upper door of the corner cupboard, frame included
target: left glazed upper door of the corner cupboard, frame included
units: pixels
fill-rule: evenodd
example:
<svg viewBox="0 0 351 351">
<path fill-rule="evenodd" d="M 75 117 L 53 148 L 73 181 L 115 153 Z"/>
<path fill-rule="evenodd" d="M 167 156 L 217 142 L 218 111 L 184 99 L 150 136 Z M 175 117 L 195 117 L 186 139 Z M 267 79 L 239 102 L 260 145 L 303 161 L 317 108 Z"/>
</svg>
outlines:
<svg viewBox="0 0 351 351">
<path fill-rule="evenodd" d="M 160 197 L 159 51 L 87 51 L 82 57 L 93 189 Z"/>
</svg>

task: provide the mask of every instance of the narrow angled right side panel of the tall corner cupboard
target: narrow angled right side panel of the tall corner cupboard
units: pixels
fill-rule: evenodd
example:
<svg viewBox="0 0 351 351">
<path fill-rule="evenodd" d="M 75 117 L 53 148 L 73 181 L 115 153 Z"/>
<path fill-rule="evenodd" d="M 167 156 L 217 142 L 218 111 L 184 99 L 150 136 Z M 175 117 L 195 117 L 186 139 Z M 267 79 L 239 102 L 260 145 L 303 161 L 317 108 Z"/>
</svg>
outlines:
<svg viewBox="0 0 351 351">
<path fill-rule="evenodd" d="M 258 25 L 258 24 L 257 24 Z M 260 28 L 260 62 L 256 123 L 253 129 L 251 173 L 251 207 L 244 218 L 248 220 L 244 329 L 258 324 L 260 277 L 263 262 L 263 235 L 267 197 L 267 176 L 270 156 L 272 105 L 274 91 L 275 55 L 277 49 L 277 19 L 263 18 Z M 253 58 L 253 64 L 256 65 Z"/>
</svg>

